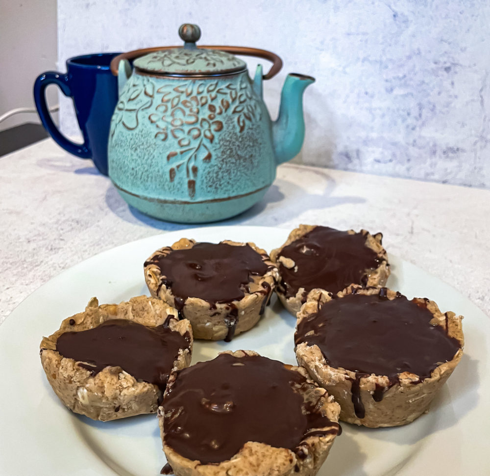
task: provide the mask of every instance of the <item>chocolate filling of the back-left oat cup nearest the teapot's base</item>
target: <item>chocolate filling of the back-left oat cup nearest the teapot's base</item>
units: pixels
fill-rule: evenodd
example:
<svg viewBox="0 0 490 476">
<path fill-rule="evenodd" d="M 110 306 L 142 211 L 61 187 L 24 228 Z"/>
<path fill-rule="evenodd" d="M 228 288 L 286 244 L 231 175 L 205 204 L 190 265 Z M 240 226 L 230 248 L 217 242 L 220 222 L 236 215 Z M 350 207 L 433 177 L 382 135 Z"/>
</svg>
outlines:
<svg viewBox="0 0 490 476">
<path fill-rule="evenodd" d="M 269 266 L 249 245 L 196 243 L 192 248 L 157 255 L 148 264 L 160 268 L 162 284 L 183 302 L 198 297 L 209 303 L 231 302 L 245 296 L 252 276 L 262 276 Z"/>
</svg>

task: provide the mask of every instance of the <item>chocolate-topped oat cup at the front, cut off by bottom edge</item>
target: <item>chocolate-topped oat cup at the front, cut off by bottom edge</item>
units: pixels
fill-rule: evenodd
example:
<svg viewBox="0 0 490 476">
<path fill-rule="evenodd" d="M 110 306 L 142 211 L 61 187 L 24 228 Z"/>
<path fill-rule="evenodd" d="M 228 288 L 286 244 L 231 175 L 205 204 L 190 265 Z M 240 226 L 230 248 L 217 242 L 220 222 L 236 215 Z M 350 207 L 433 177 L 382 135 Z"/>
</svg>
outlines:
<svg viewBox="0 0 490 476">
<path fill-rule="evenodd" d="M 176 476 L 313 476 L 340 407 L 301 367 L 249 350 L 174 372 L 158 418 Z"/>
</svg>

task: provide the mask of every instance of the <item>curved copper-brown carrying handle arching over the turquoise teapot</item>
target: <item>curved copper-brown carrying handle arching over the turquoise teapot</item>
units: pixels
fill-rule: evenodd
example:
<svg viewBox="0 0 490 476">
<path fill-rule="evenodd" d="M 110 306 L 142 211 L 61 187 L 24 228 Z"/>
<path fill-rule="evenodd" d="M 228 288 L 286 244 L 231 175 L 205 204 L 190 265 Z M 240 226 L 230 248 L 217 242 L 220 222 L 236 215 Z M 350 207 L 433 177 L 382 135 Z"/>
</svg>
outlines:
<svg viewBox="0 0 490 476">
<path fill-rule="evenodd" d="M 122 59 L 133 60 L 135 58 L 139 58 L 140 56 L 144 56 L 148 53 L 154 53 L 155 51 L 162 50 L 172 50 L 174 48 L 182 48 L 181 46 L 160 46 L 153 48 L 142 48 L 141 50 L 134 50 L 127 53 L 118 54 L 111 61 L 111 72 L 114 76 L 118 75 L 119 62 Z M 226 53 L 240 54 L 242 56 L 255 56 L 258 58 L 267 59 L 272 63 L 270 70 L 267 74 L 265 74 L 262 79 L 271 79 L 273 78 L 282 68 L 282 59 L 277 56 L 277 54 L 272 53 L 267 50 L 260 50 L 259 48 L 248 48 L 245 46 L 198 46 L 197 48 L 203 48 L 206 50 L 220 50 Z"/>
</svg>

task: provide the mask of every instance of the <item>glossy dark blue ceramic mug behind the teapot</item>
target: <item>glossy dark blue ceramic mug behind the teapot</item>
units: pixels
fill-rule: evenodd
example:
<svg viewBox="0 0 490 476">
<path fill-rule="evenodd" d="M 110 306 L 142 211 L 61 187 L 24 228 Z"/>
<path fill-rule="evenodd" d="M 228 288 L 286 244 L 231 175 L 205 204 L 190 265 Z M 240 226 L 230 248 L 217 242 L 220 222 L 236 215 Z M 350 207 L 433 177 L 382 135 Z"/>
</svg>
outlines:
<svg viewBox="0 0 490 476">
<path fill-rule="evenodd" d="M 47 71 L 34 83 L 34 101 L 41 122 L 51 137 L 81 159 L 92 159 L 99 172 L 107 175 L 107 138 L 111 116 L 118 101 L 118 79 L 111 73 L 110 62 L 120 53 L 96 53 L 75 56 L 66 62 L 66 74 Z M 45 90 L 56 84 L 73 99 L 83 143 L 67 139 L 49 115 Z"/>
</svg>

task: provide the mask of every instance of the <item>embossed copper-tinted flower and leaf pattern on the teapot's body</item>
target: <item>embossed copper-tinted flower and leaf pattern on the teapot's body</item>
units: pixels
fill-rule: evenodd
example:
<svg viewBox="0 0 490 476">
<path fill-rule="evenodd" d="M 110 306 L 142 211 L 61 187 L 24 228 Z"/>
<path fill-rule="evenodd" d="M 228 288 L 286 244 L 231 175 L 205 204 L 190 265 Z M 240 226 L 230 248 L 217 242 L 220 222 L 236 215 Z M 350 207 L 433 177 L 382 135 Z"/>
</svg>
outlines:
<svg viewBox="0 0 490 476">
<path fill-rule="evenodd" d="M 223 130 L 224 116 L 233 118 L 238 133 L 244 132 L 248 124 L 261 120 L 260 102 L 246 75 L 229 82 L 173 80 L 156 90 L 150 77 L 133 75 L 114 111 L 110 137 L 119 124 L 127 131 L 134 131 L 143 121 L 148 121 L 155 132 L 154 140 L 169 140 L 173 146 L 166 156 L 172 165 L 170 182 L 185 170 L 192 198 L 197 164 L 213 158 L 211 144 Z"/>
</svg>

